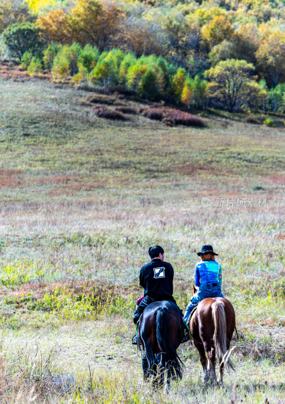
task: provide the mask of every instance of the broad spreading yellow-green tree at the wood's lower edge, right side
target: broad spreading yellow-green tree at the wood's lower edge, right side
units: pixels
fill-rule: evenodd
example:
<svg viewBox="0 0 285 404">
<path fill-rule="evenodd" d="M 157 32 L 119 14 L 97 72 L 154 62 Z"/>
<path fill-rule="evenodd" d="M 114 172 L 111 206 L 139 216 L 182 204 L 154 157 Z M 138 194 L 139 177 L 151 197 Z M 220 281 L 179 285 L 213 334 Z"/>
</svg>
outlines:
<svg viewBox="0 0 285 404">
<path fill-rule="evenodd" d="M 244 60 L 221 61 L 205 72 L 210 81 L 207 90 L 228 111 L 237 111 L 258 94 L 259 87 L 252 76 L 254 69 Z"/>
</svg>

